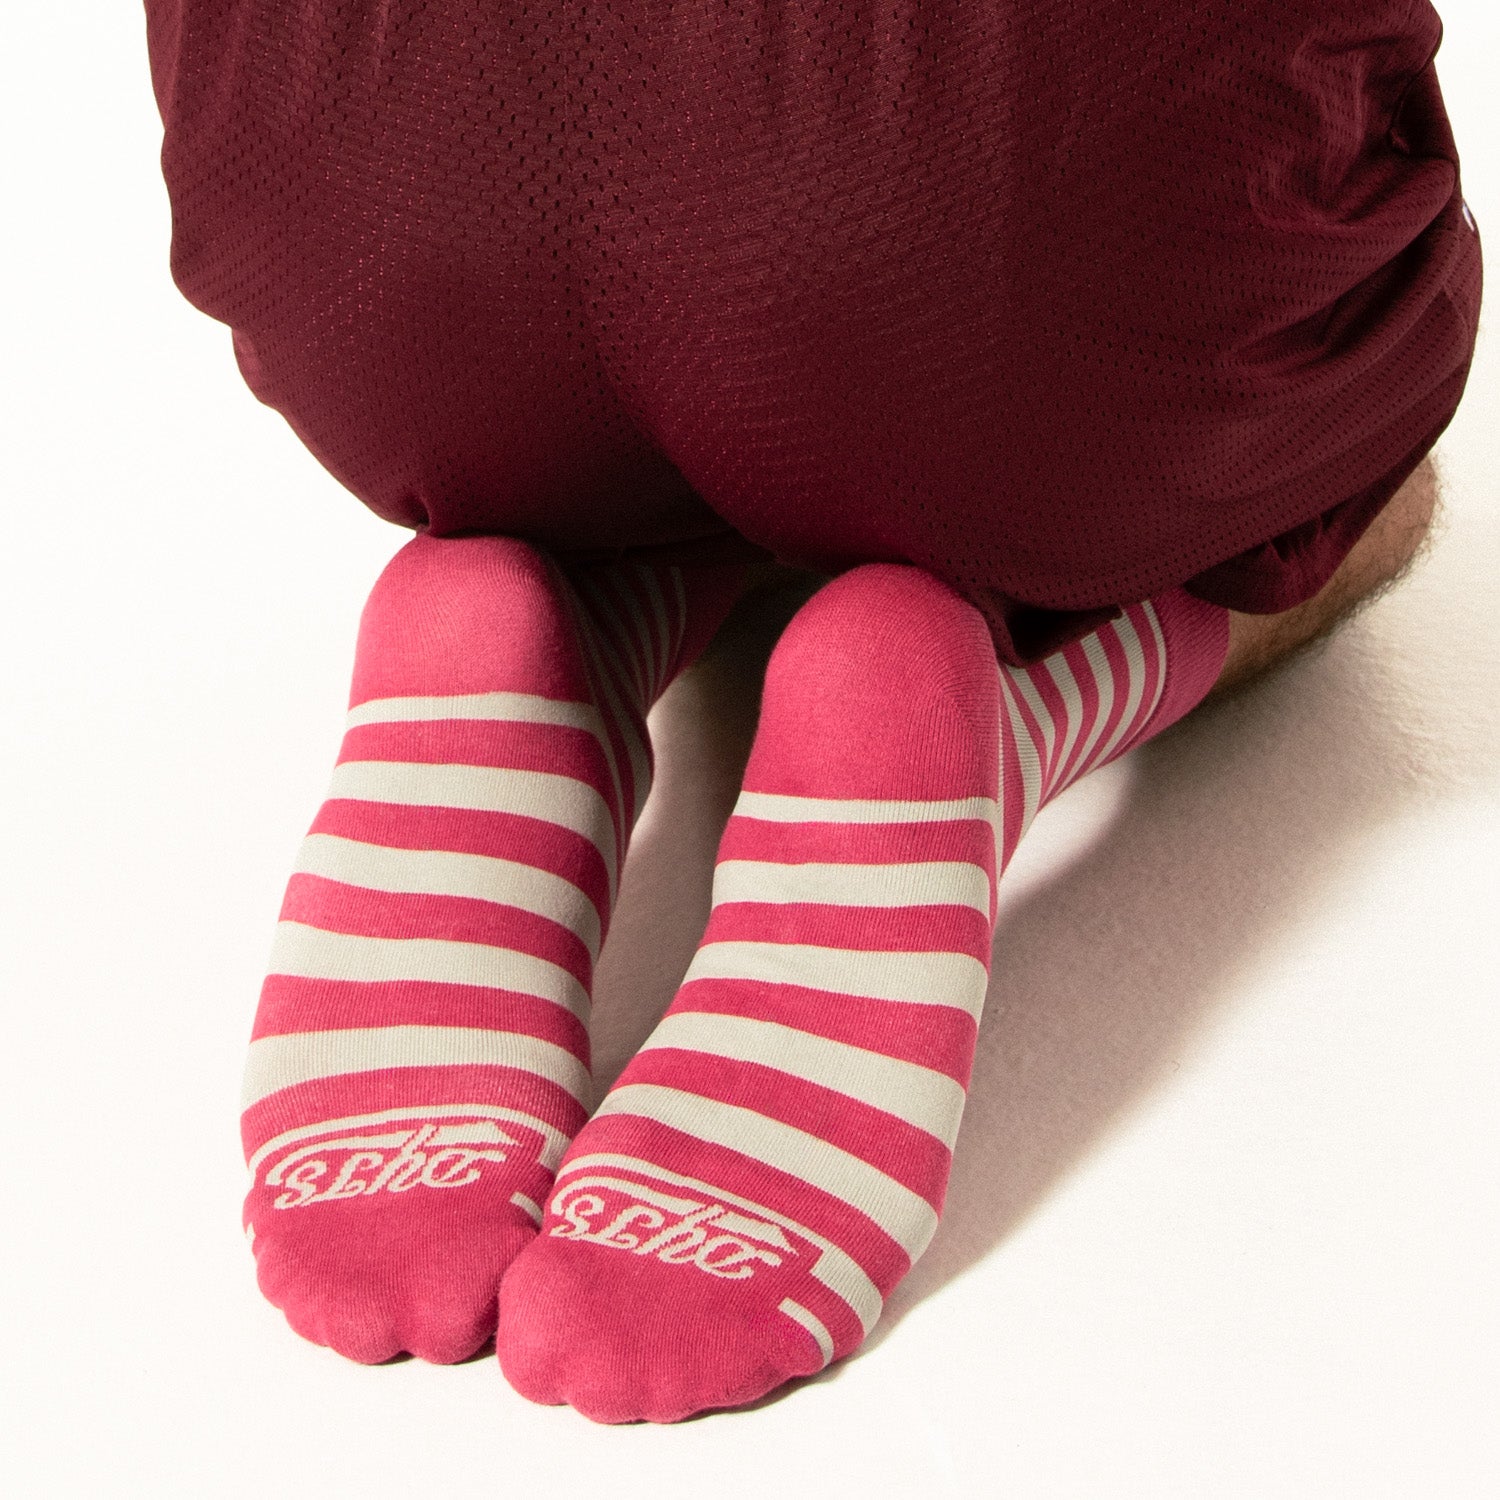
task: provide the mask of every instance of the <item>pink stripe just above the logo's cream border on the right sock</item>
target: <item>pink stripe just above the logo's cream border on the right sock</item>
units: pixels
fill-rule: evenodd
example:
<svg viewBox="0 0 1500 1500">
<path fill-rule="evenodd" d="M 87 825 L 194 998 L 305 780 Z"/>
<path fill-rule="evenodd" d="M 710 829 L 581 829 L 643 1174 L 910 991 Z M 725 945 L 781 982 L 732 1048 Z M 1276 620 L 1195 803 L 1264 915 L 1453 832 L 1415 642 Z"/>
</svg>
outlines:
<svg viewBox="0 0 1500 1500">
<path fill-rule="evenodd" d="M 711 1182 L 752 1203 L 778 1209 L 852 1256 L 882 1296 L 890 1296 L 896 1282 L 910 1269 L 906 1251 L 879 1224 L 843 1198 L 738 1150 L 706 1146 L 696 1136 L 684 1136 L 639 1114 L 598 1114 L 588 1126 L 588 1154 L 596 1152 L 674 1162 L 675 1170 L 687 1176 Z"/>
</svg>

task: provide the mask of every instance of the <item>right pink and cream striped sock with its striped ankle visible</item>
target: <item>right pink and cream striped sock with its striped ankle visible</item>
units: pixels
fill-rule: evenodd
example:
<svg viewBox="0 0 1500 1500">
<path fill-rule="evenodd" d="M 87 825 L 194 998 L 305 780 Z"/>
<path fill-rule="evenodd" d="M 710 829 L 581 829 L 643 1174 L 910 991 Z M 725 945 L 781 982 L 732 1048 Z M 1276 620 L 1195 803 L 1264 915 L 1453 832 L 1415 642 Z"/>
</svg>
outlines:
<svg viewBox="0 0 1500 1500">
<path fill-rule="evenodd" d="M 938 1227 L 998 873 L 1050 796 L 1208 693 L 1227 639 L 1174 591 L 998 672 L 978 612 L 915 568 L 804 606 L 702 945 L 501 1286 L 518 1390 L 672 1422 L 861 1342 Z"/>
</svg>

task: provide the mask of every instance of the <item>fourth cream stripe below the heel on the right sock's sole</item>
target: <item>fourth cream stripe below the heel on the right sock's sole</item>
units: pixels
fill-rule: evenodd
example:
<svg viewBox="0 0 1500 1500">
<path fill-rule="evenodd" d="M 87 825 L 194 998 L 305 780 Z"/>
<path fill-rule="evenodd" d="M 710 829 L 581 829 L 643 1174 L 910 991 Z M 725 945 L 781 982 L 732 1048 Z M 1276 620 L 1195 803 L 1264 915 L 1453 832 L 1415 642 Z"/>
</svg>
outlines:
<svg viewBox="0 0 1500 1500">
<path fill-rule="evenodd" d="M 792 1026 L 712 1011 L 678 1011 L 657 1026 L 640 1052 L 652 1047 L 681 1047 L 776 1068 L 894 1114 L 936 1136 L 950 1150 L 958 1134 L 964 1094 L 945 1072 Z"/>
</svg>

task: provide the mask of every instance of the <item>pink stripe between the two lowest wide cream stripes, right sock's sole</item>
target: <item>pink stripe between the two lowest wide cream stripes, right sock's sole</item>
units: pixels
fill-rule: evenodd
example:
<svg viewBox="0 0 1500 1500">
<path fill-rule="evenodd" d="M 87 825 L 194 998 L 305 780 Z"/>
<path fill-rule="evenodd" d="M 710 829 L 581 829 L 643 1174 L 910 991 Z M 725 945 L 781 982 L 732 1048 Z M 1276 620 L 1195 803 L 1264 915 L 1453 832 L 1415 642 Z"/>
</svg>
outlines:
<svg viewBox="0 0 1500 1500">
<path fill-rule="evenodd" d="M 675 1047 L 651 1047 L 638 1053 L 624 1082 L 681 1089 L 792 1125 L 867 1161 L 927 1198 L 934 1210 L 942 1208 L 948 1185 L 948 1148 L 936 1136 L 837 1089 L 758 1062 L 716 1058 L 706 1052 L 678 1052 Z"/>
</svg>

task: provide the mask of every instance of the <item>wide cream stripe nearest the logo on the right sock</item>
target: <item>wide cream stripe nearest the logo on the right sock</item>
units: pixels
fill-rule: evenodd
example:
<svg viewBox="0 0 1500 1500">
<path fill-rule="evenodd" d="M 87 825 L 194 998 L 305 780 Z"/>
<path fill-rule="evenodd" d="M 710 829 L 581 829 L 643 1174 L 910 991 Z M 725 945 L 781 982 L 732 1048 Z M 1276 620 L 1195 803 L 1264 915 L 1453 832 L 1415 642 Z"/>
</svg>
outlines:
<svg viewBox="0 0 1500 1500">
<path fill-rule="evenodd" d="M 654 1083 L 627 1083 L 604 1095 L 594 1119 L 602 1114 L 657 1120 L 798 1178 L 873 1220 L 912 1260 L 927 1248 L 938 1228 L 932 1204 L 879 1167 L 795 1125 L 738 1104 Z"/>
</svg>

